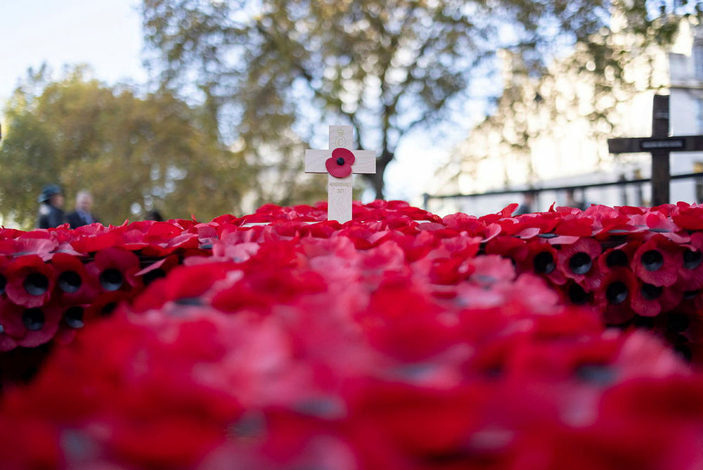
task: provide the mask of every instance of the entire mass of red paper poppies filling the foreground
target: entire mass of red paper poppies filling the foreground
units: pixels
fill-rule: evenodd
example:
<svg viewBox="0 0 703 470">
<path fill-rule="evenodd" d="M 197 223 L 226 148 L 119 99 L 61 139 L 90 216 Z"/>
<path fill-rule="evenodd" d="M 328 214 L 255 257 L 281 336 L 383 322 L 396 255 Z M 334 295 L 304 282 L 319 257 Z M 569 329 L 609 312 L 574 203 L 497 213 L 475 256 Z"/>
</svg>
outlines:
<svg viewBox="0 0 703 470">
<path fill-rule="evenodd" d="M 703 466 L 703 206 L 0 230 L 9 468 Z"/>
</svg>

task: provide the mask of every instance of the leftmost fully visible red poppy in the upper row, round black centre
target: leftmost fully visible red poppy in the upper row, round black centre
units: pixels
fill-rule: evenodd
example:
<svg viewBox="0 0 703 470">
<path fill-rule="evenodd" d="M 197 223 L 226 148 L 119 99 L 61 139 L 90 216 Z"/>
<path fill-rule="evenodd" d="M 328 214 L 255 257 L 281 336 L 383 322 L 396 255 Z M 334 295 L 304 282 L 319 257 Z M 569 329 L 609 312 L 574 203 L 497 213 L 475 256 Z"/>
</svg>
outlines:
<svg viewBox="0 0 703 470">
<path fill-rule="evenodd" d="M 53 291 L 53 269 L 39 255 L 25 255 L 10 262 L 6 269 L 5 292 L 10 300 L 23 307 L 39 307 Z"/>
</svg>

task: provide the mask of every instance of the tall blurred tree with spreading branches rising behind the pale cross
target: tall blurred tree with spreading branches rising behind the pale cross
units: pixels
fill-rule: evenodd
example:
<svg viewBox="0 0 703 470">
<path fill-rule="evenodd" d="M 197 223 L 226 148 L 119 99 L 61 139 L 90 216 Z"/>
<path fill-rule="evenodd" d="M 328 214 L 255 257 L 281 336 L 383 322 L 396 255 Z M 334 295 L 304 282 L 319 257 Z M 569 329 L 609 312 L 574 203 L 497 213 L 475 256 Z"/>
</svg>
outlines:
<svg viewBox="0 0 703 470">
<path fill-rule="evenodd" d="M 666 41 L 659 8 L 699 4 L 607 0 L 143 0 L 151 65 L 163 87 L 199 94 L 250 163 L 298 170 L 321 118 L 354 126 L 359 148 L 380 149 L 368 175 L 378 198 L 399 141 L 431 127 L 492 67 L 498 48 L 531 73 L 565 46 L 586 44 L 595 70 L 618 62 L 602 32 L 613 10 L 627 28 Z M 494 65 L 494 64 L 493 64 Z M 472 75 L 473 74 L 473 75 Z M 192 85 L 195 84 L 195 88 Z M 475 91 L 475 90 L 474 90 Z M 498 93 L 499 90 L 496 90 Z M 195 94 L 194 94 L 195 93 Z M 318 133 L 326 128 L 316 126 Z M 227 129 L 234 129 L 232 132 Z M 263 158 L 266 155 L 267 158 Z M 263 159 L 262 159 L 263 158 Z M 286 178 L 285 181 L 294 181 Z"/>
</svg>

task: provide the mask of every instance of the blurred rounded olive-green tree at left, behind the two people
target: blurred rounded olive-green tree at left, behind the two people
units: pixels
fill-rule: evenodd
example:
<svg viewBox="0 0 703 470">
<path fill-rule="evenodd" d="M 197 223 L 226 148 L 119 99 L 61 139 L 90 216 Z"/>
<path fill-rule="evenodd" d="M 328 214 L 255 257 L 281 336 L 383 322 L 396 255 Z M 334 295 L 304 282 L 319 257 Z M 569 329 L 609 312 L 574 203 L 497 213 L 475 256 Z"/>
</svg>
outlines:
<svg viewBox="0 0 703 470">
<path fill-rule="evenodd" d="M 207 132 L 204 116 L 165 92 L 141 99 L 105 87 L 84 68 L 58 82 L 45 68 L 30 72 L 6 108 L 0 213 L 32 227 L 49 182 L 63 186 L 69 210 L 89 189 L 105 224 L 153 208 L 200 220 L 240 210 L 250 168 Z"/>
</svg>

